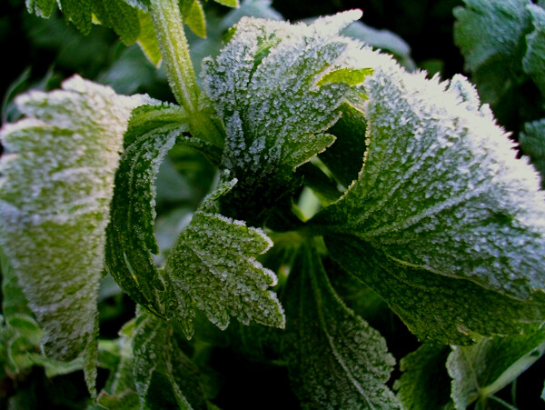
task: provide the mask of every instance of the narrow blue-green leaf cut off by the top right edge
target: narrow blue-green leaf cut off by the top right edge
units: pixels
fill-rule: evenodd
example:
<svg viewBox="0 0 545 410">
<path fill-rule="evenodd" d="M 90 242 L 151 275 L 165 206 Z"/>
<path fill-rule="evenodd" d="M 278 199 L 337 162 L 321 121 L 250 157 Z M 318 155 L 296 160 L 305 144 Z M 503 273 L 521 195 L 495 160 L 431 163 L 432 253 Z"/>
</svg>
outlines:
<svg viewBox="0 0 545 410">
<path fill-rule="evenodd" d="M 545 96 L 545 10 L 539 5 L 527 5 L 534 30 L 526 35 L 527 50 L 522 59 L 524 72 L 532 78 Z"/>
</svg>

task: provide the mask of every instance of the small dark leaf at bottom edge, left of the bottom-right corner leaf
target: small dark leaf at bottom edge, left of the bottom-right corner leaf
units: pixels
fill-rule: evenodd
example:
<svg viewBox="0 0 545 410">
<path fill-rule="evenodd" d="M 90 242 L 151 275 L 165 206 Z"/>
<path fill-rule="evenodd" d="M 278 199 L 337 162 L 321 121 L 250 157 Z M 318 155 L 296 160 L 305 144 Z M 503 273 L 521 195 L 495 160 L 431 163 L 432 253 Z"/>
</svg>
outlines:
<svg viewBox="0 0 545 410">
<path fill-rule="evenodd" d="M 436 410 L 451 402 L 451 378 L 445 364 L 451 348 L 421 345 L 401 359 L 401 378 L 393 388 L 405 408 Z"/>
</svg>

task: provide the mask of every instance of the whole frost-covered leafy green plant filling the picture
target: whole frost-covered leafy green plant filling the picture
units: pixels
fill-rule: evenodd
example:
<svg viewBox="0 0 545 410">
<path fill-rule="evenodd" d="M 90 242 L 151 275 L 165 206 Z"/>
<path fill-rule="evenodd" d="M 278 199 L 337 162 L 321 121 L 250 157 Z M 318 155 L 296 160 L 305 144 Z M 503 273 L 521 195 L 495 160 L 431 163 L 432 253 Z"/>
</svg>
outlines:
<svg viewBox="0 0 545 410">
<path fill-rule="evenodd" d="M 520 55 L 518 37 L 471 35 L 522 3 L 455 11 L 485 98 L 479 70 L 518 64 L 501 49 Z M 545 12 L 527 3 L 522 65 L 540 87 Z M 26 1 L 44 17 L 55 5 Z M 220 52 L 193 40 L 213 54 L 198 79 L 183 27 L 205 35 L 198 0 L 58 5 L 163 60 L 176 104 L 77 75 L 15 99 L 25 118 L 0 131 L 10 405 L 28 405 L 22 381 L 41 368 L 83 370 L 78 405 L 216 408 L 225 351 L 287 376 L 303 408 L 517 405 L 503 388 L 545 351 L 545 195 L 465 77 L 408 71 L 408 47 L 353 25 L 358 10 L 290 24 L 247 1 Z M 520 140 L 538 166 L 540 124 Z M 176 168 L 192 162 L 207 182 Z M 105 295 L 137 305 L 117 338 L 99 333 Z M 389 351 L 404 326 L 422 343 L 409 355 Z"/>
</svg>

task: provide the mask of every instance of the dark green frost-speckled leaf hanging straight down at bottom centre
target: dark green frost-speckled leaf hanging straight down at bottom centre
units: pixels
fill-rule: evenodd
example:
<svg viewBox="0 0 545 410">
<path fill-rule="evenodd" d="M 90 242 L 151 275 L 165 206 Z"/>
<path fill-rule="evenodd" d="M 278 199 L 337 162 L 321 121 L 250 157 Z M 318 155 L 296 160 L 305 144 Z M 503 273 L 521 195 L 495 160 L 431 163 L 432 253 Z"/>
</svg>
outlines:
<svg viewBox="0 0 545 410">
<path fill-rule="evenodd" d="M 385 385 L 395 363 L 386 341 L 335 293 L 304 245 L 285 291 L 282 351 L 304 408 L 400 408 Z"/>
</svg>

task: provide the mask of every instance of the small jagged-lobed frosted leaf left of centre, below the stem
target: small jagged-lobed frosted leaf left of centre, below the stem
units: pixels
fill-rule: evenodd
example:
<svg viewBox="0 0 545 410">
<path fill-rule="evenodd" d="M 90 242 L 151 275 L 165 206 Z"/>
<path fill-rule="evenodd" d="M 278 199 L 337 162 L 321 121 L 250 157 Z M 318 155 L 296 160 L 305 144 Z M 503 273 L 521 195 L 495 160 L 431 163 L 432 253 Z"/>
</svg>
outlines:
<svg viewBox="0 0 545 410">
<path fill-rule="evenodd" d="M 193 335 L 193 305 L 221 329 L 230 316 L 243 324 L 283 327 L 282 306 L 269 290 L 276 276 L 255 260 L 271 245 L 261 229 L 197 211 L 166 263 L 167 315 L 181 321 L 187 337 Z"/>
</svg>

